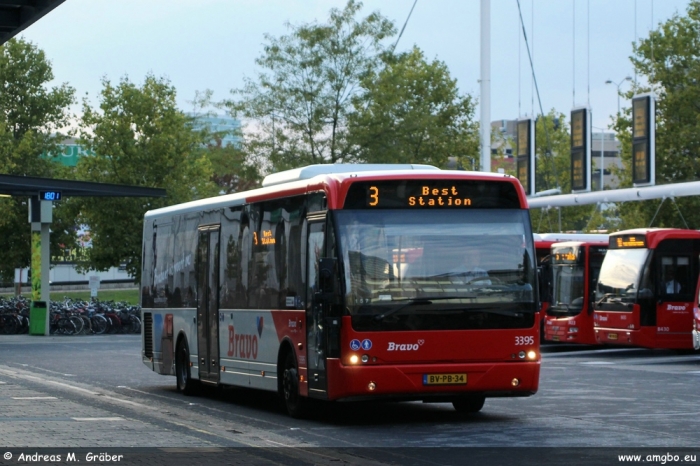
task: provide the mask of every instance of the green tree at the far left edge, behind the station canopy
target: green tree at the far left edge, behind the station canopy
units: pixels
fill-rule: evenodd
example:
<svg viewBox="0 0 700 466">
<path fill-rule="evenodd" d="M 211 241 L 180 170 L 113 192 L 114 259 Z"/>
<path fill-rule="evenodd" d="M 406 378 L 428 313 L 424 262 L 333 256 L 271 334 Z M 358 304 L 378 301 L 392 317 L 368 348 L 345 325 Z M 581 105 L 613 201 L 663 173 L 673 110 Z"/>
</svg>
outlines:
<svg viewBox="0 0 700 466">
<path fill-rule="evenodd" d="M 55 153 L 68 125 L 74 90 L 67 84 L 49 87 L 51 63 L 42 50 L 21 39 L 0 46 L 0 167 L 5 174 L 60 178 L 68 173 L 42 157 Z M 0 278 L 30 261 L 27 198 L 0 198 Z M 52 249 L 63 241 L 63 229 L 52 235 Z"/>
</svg>

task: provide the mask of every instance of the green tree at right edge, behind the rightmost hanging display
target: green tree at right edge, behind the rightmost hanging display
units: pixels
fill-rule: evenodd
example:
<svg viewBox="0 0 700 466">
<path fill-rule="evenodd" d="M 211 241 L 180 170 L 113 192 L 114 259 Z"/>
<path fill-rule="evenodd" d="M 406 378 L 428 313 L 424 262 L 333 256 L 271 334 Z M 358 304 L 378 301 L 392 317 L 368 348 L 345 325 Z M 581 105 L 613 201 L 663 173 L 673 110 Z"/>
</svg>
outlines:
<svg viewBox="0 0 700 466">
<path fill-rule="evenodd" d="M 653 92 L 656 99 L 656 184 L 700 178 L 700 2 L 692 0 L 685 15 L 675 14 L 650 31 L 633 48 L 638 79 L 623 95 Z M 632 186 L 632 115 L 624 109 L 614 122 L 621 141 L 621 187 Z M 673 206 L 675 202 L 676 206 Z M 662 206 L 665 206 L 663 208 Z M 620 209 L 622 228 L 646 226 L 700 228 L 700 198 L 628 202 Z"/>
</svg>

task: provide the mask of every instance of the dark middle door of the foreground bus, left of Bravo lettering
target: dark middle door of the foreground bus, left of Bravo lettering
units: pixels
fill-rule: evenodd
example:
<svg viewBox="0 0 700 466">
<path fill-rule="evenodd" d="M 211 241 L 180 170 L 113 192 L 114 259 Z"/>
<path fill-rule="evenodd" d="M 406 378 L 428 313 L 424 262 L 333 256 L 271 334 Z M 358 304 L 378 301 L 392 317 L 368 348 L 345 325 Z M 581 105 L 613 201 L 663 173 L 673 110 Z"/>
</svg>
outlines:
<svg viewBox="0 0 700 466">
<path fill-rule="evenodd" d="M 197 243 L 199 379 L 219 381 L 219 226 L 199 228 Z"/>
</svg>

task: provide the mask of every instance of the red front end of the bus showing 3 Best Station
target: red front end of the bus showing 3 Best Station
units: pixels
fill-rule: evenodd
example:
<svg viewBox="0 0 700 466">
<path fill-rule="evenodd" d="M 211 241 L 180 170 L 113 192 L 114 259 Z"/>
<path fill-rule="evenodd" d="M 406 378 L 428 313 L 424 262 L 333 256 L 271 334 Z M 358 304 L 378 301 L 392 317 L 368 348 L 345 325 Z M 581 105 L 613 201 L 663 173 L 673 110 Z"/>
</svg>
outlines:
<svg viewBox="0 0 700 466">
<path fill-rule="evenodd" d="M 321 279 L 319 315 L 307 317 L 309 396 L 474 410 L 537 391 L 529 213 L 502 180 L 348 183 L 320 261 L 319 275 L 337 281 Z"/>
</svg>

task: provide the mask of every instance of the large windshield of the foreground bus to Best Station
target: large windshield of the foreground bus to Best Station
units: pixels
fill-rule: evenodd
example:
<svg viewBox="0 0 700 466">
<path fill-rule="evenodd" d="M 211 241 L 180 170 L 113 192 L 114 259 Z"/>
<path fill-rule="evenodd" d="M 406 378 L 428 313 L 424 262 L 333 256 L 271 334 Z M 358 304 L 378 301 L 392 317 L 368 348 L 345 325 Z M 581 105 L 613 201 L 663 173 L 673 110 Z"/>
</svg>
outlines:
<svg viewBox="0 0 700 466">
<path fill-rule="evenodd" d="M 526 211 L 335 214 L 356 329 L 532 325 L 536 268 Z"/>
</svg>

